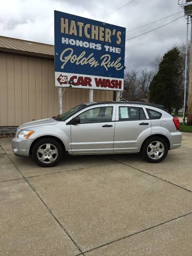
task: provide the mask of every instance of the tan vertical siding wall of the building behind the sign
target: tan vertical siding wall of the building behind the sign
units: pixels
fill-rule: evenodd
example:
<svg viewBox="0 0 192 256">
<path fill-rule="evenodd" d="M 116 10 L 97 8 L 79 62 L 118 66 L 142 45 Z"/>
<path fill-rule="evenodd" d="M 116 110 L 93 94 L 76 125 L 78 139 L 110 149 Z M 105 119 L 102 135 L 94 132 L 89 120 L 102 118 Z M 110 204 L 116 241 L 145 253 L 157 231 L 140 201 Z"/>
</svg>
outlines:
<svg viewBox="0 0 192 256">
<path fill-rule="evenodd" d="M 0 126 L 58 115 L 54 80 L 54 61 L 0 53 Z M 93 100 L 113 100 L 113 92 L 94 90 Z M 88 101 L 89 90 L 67 88 L 63 112 Z"/>
</svg>

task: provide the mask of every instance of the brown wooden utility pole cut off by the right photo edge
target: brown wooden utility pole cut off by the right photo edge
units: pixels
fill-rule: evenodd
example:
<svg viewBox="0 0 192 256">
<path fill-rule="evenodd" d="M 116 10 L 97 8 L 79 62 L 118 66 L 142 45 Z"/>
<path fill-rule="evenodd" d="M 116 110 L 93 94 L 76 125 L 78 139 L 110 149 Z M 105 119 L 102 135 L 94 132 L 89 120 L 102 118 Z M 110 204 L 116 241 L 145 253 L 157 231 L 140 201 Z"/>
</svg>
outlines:
<svg viewBox="0 0 192 256">
<path fill-rule="evenodd" d="M 192 16 L 191 16 L 191 21 L 192 21 Z M 191 49 L 190 49 L 190 65 L 189 65 L 187 125 L 192 125 L 192 24 L 191 24 Z"/>
</svg>

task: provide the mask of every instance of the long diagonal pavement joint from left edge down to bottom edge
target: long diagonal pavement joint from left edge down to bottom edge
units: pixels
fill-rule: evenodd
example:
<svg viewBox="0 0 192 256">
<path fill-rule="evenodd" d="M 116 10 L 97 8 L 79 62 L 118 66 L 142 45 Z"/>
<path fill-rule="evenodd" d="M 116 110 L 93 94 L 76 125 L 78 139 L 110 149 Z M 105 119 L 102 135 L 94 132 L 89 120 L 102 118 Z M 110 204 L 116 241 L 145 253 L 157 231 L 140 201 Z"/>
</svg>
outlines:
<svg viewBox="0 0 192 256">
<path fill-rule="evenodd" d="M 0 148 L 2 148 L 2 146 L 0 145 Z M 5 154 L 9 157 L 9 155 L 6 153 L 6 151 L 2 148 L 2 150 L 5 152 Z M 12 161 L 12 159 L 9 157 L 9 160 L 14 164 L 15 168 L 17 169 L 18 172 L 20 172 L 20 170 L 17 168 L 17 166 L 15 165 L 15 163 Z M 76 244 L 76 242 L 73 240 L 73 238 L 70 236 L 70 234 L 67 232 L 67 230 L 64 228 L 64 226 L 61 224 L 61 222 L 58 220 L 58 218 L 55 217 L 55 215 L 53 214 L 53 212 L 51 211 L 51 209 L 49 209 L 49 207 L 47 206 L 47 204 L 44 202 L 44 200 L 41 198 L 41 196 L 38 194 L 38 192 L 35 191 L 35 189 L 33 188 L 33 186 L 29 183 L 29 181 L 27 180 L 27 178 L 22 174 L 22 172 L 20 172 L 20 175 L 22 175 L 23 179 L 28 183 L 28 185 L 31 187 L 31 189 L 33 190 L 33 192 L 35 192 L 35 194 L 38 196 L 38 198 L 41 200 L 41 202 L 44 204 L 44 206 L 47 208 L 47 210 L 49 211 L 49 213 L 53 216 L 53 218 L 55 219 L 55 221 L 61 226 L 61 228 L 64 230 L 64 232 L 67 234 L 67 236 L 71 239 L 71 241 L 73 241 L 73 243 L 75 244 L 75 246 L 79 249 L 79 251 L 81 252 L 82 255 L 83 252 L 81 251 L 81 249 L 79 248 L 79 246 Z"/>
</svg>

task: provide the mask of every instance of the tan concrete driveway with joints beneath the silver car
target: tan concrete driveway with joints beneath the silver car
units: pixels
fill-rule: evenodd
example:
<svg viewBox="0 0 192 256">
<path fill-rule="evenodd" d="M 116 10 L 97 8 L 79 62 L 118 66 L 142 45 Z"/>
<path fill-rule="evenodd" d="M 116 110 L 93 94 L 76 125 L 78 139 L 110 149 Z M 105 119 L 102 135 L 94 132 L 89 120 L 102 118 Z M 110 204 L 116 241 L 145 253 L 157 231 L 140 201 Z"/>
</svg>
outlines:
<svg viewBox="0 0 192 256">
<path fill-rule="evenodd" d="M 66 157 L 41 168 L 0 139 L 0 255 L 192 255 L 192 134 L 162 163 Z"/>
</svg>

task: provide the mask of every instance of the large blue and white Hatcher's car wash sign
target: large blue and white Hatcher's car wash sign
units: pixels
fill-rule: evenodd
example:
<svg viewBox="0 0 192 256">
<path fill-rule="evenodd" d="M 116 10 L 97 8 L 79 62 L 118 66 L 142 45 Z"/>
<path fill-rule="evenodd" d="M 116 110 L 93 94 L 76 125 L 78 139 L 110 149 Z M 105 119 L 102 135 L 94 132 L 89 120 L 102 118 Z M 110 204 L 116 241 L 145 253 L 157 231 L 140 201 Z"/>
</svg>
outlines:
<svg viewBox="0 0 192 256">
<path fill-rule="evenodd" d="M 55 85 L 123 90 L 125 28 L 55 11 Z"/>
</svg>

